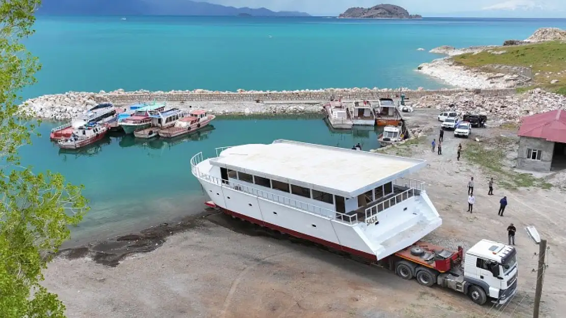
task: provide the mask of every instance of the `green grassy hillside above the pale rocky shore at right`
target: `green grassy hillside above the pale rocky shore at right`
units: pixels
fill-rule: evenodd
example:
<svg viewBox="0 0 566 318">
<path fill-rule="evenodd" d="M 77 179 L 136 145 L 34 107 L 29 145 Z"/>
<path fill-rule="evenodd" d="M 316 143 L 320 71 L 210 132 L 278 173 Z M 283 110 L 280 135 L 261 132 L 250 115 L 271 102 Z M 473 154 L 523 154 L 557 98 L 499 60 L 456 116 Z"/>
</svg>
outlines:
<svg viewBox="0 0 566 318">
<path fill-rule="evenodd" d="M 490 51 L 505 51 L 494 54 Z M 566 95 L 566 42 L 552 41 L 529 45 L 505 46 L 478 54 L 454 56 L 454 62 L 468 67 L 484 68 L 490 65 L 525 66 L 533 68 L 534 87 Z M 551 84 L 552 80 L 558 80 Z"/>
</svg>

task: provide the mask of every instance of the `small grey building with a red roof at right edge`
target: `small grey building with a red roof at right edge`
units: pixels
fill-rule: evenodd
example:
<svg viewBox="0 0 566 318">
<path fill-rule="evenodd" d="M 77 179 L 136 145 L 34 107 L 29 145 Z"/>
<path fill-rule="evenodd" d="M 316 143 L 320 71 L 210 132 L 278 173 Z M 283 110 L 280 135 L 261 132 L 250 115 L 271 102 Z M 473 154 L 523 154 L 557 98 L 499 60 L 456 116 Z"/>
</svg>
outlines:
<svg viewBox="0 0 566 318">
<path fill-rule="evenodd" d="M 517 168 L 548 172 L 566 168 L 566 110 L 523 118 Z"/>
</svg>

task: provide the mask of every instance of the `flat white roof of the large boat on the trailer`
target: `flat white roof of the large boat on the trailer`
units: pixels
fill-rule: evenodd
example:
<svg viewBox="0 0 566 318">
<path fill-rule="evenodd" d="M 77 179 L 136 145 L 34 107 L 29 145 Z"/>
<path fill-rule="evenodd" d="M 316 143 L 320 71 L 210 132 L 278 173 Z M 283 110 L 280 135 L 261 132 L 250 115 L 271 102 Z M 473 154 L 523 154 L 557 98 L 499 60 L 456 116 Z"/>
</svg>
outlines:
<svg viewBox="0 0 566 318">
<path fill-rule="evenodd" d="M 346 198 L 366 193 L 426 165 L 426 160 L 288 140 L 234 146 L 210 162 L 217 167 Z"/>
</svg>

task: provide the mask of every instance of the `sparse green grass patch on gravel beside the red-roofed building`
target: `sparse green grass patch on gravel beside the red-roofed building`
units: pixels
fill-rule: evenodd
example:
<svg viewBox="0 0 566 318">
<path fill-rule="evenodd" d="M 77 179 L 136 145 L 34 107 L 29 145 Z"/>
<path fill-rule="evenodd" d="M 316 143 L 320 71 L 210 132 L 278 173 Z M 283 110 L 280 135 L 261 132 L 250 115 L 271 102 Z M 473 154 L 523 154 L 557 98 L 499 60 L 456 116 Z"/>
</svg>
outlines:
<svg viewBox="0 0 566 318">
<path fill-rule="evenodd" d="M 497 137 L 495 142 L 469 143 L 464 149 L 464 158 L 486 169 L 493 174 L 496 183 L 504 189 L 516 190 L 518 188 L 538 187 L 550 189 L 552 185 L 541 178 L 534 177 L 528 173 L 514 172 L 505 167 L 505 149 L 513 143 L 512 138 Z"/>
</svg>

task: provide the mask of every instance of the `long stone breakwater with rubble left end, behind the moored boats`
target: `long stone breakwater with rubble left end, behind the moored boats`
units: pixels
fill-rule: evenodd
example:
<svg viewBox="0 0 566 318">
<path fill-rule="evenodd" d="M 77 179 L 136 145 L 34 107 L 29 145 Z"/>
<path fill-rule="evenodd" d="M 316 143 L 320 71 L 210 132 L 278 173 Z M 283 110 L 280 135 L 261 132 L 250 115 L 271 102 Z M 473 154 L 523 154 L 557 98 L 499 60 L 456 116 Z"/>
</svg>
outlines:
<svg viewBox="0 0 566 318">
<path fill-rule="evenodd" d="M 183 109 L 201 108 L 212 114 L 293 114 L 320 111 L 321 103 L 331 98 L 344 101 L 354 99 L 377 100 L 383 97 L 395 98 L 404 94 L 411 101 L 428 95 L 449 96 L 466 92 L 462 89 L 409 90 L 409 89 L 325 89 L 301 90 L 294 92 L 212 92 L 208 90 L 149 92 L 139 90 L 125 92 L 116 90 L 106 93 L 69 92 L 44 95 L 28 99 L 22 110 L 35 117 L 66 120 L 83 114 L 98 103 L 112 102 L 126 107 L 134 103 L 165 101 L 170 107 Z M 514 89 L 486 89 L 475 94 L 499 97 L 514 94 Z"/>
</svg>

